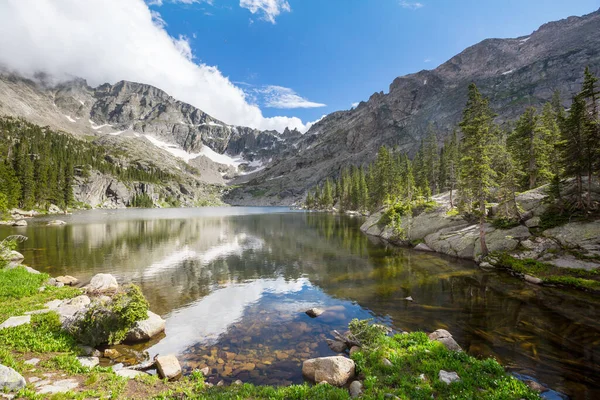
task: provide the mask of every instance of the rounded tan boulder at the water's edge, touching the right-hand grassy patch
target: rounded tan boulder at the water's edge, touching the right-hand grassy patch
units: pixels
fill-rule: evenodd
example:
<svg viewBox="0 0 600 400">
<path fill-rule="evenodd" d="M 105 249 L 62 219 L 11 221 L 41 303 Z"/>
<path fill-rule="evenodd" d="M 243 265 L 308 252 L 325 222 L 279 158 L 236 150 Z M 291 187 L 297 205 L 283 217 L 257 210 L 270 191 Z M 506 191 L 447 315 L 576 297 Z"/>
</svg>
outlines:
<svg viewBox="0 0 600 400">
<path fill-rule="evenodd" d="M 342 356 L 312 358 L 302 364 L 302 375 L 316 383 L 344 386 L 354 377 L 354 361 Z"/>
</svg>

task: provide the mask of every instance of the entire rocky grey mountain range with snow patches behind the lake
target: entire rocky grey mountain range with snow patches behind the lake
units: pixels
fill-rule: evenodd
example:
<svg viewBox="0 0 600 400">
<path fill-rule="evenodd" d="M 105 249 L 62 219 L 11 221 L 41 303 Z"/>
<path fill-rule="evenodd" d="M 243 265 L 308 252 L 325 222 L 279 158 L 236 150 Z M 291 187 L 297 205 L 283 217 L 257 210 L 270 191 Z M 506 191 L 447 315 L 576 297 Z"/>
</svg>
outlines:
<svg viewBox="0 0 600 400">
<path fill-rule="evenodd" d="M 600 73 L 600 10 L 528 36 L 484 40 L 433 70 L 396 78 L 387 93 L 331 113 L 304 134 L 228 125 L 143 83 L 94 88 L 79 78 L 55 83 L 43 73 L 26 79 L 2 69 L 0 115 L 125 150 L 138 163 L 199 183 L 191 190 L 173 184 L 170 191 L 182 198 L 207 184 L 228 185 L 230 204 L 288 205 L 342 168 L 371 162 L 382 145 L 412 155 L 428 129 L 443 140 L 460 121 L 471 82 L 503 124 L 549 101 L 555 90 L 568 107 L 586 66 Z"/>
</svg>

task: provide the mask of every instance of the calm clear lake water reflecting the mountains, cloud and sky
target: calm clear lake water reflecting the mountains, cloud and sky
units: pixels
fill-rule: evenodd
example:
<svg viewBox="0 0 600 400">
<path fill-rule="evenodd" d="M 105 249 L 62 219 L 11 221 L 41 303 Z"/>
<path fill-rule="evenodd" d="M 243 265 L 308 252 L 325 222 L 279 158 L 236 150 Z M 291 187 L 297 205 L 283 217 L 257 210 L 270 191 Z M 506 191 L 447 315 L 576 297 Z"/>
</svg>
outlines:
<svg viewBox="0 0 600 400">
<path fill-rule="evenodd" d="M 363 235 L 360 219 L 284 211 L 95 210 L 19 233 L 29 236 L 21 250 L 34 268 L 82 280 L 109 272 L 140 285 L 167 335 L 135 350 L 175 353 L 186 371 L 208 366 L 215 380 L 301 382 L 303 360 L 334 354 L 324 340 L 332 330 L 374 318 L 448 329 L 472 355 L 574 398 L 600 396 L 592 296 L 394 248 Z M 304 314 L 317 305 L 321 317 Z"/>
</svg>

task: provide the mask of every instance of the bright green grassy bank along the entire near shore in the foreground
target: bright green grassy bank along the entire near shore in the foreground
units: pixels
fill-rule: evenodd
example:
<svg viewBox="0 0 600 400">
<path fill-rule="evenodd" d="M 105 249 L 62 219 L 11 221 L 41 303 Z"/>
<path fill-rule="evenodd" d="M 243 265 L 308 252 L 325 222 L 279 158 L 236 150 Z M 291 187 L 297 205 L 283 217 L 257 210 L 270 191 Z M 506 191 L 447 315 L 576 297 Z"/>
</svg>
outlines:
<svg viewBox="0 0 600 400">
<path fill-rule="evenodd" d="M 40 287 L 48 278 L 19 267 L 0 270 L 0 322 L 10 316 L 43 308 L 53 299 L 71 298 L 78 289 Z M 508 376 L 494 360 L 477 360 L 463 352 L 452 352 L 430 341 L 424 333 L 387 336 L 365 322 L 353 322 L 351 329 L 360 339 L 361 351 L 352 358 L 364 384 L 363 398 L 381 399 L 537 399 L 523 383 Z M 119 377 L 111 368 L 89 369 L 77 360 L 81 349 L 62 331 L 58 315 L 34 314 L 31 323 L 0 330 L 0 363 L 14 368 L 28 382 L 16 393 L 24 399 L 348 399 L 347 389 L 330 385 L 287 387 L 251 384 L 209 387 L 200 372 L 167 382 L 145 375 L 132 380 Z M 37 365 L 26 361 L 38 358 Z M 385 360 L 389 360 L 387 363 Z M 454 371 L 459 382 L 439 380 L 439 371 Z M 55 395 L 40 395 L 32 378 L 77 382 L 76 389 Z"/>
</svg>

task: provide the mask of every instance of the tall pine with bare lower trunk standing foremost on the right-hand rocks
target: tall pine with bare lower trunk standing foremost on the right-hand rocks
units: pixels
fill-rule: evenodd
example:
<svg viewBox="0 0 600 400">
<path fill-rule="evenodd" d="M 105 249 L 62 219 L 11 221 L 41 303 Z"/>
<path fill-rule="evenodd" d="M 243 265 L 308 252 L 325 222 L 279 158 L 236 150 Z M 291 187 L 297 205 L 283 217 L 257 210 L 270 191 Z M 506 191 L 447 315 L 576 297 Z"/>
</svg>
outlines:
<svg viewBox="0 0 600 400">
<path fill-rule="evenodd" d="M 483 256 L 488 254 L 485 242 L 485 201 L 495 175 L 490 155 L 494 116 L 488 100 L 481 95 L 477 86 L 474 83 L 469 85 L 467 105 L 460 122 L 463 133 L 460 182 L 461 190 L 479 203 L 479 239 Z"/>
</svg>

